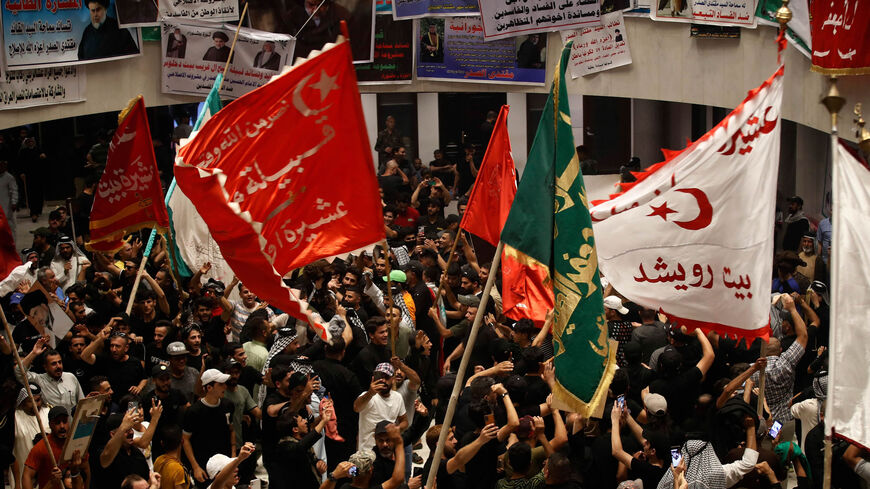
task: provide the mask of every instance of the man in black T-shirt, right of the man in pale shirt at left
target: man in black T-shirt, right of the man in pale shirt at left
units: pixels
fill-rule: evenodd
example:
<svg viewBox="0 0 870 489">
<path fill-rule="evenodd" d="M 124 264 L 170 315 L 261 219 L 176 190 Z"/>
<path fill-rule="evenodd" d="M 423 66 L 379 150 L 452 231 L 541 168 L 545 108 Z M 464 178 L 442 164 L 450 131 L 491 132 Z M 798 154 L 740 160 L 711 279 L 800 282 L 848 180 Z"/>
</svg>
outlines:
<svg viewBox="0 0 870 489">
<path fill-rule="evenodd" d="M 109 378 L 109 382 L 115 389 L 113 400 L 117 402 L 127 393 L 138 396 L 148 383 L 148 378 L 145 376 L 142 361 L 128 353 L 129 336 L 120 331 L 112 332 L 115 320 L 116 318 L 113 318 L 85 348 L 82 352 L 82 360 L 89 365 L 94 365 L 95 371 L 104 373 Z M 105 344 L 106 339 L 109 339 L 109 354 L 97 357 L 96 353 Z"/>
</svg>

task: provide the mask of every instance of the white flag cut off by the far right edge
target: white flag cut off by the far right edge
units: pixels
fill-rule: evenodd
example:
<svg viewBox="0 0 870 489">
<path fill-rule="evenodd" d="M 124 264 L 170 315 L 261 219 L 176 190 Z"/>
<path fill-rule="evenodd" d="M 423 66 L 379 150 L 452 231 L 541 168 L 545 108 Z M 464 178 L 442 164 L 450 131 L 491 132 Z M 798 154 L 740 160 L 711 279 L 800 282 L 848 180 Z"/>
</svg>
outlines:
<svg viewBox="0 0 870 489">
<path fill-rule="evenodd" d="M 827 433 L 870 447 L 870 170 L 842 144 L 834 161 Z M 858 368 L 856 368 L 858 367 Z"/>
</svg>

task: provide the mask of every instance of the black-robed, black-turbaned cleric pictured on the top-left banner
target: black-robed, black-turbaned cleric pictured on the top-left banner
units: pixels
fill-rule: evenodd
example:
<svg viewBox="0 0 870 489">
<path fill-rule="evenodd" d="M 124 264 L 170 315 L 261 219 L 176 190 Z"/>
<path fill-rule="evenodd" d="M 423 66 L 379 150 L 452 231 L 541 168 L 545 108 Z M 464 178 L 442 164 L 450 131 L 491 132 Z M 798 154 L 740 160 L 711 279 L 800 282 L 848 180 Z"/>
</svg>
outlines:
<svg viewBox="0 0 870 489">
<path fill-rule="evenodd" d="M 139 48 L 130 31 L 118 27 L 118 21 L 108 16 L 109 0 L 89 0 L 91 23 L 79 42 L 79 60 L 136 54 Z"/>
</svg>

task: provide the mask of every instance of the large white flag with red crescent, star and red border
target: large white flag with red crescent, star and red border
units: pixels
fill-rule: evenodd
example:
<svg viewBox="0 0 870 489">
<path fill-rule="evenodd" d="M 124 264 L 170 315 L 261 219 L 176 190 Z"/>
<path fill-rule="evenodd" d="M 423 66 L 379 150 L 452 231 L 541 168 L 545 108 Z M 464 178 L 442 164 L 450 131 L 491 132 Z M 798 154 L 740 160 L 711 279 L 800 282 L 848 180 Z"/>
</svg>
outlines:
<svg viewBox="0 0 870 489">
<path fill-rule="evenodd" d="M 766 337 L 783 67 L 707 134 L 590 210 L 598 263 L 689 329 Z"/>
</svg>

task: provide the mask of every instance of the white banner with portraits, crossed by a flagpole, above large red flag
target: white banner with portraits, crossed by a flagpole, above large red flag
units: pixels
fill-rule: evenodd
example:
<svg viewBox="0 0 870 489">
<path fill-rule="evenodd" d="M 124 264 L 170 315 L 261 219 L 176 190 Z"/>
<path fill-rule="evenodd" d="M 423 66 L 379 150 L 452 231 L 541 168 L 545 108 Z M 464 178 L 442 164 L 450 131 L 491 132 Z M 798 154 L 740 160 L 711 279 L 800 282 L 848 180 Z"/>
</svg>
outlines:
<svg viewBox="0 0 870 489">
<path fill-rule="evenodd" d="M 208 95 L 230 55 L 236 27 L 209 22 L 164 22 L 161 26 L 163 93 Z M 238 98 L 261 87 L 293 57 L 294 40 L 242 28 L 221 96 Z"/>
</svg>

